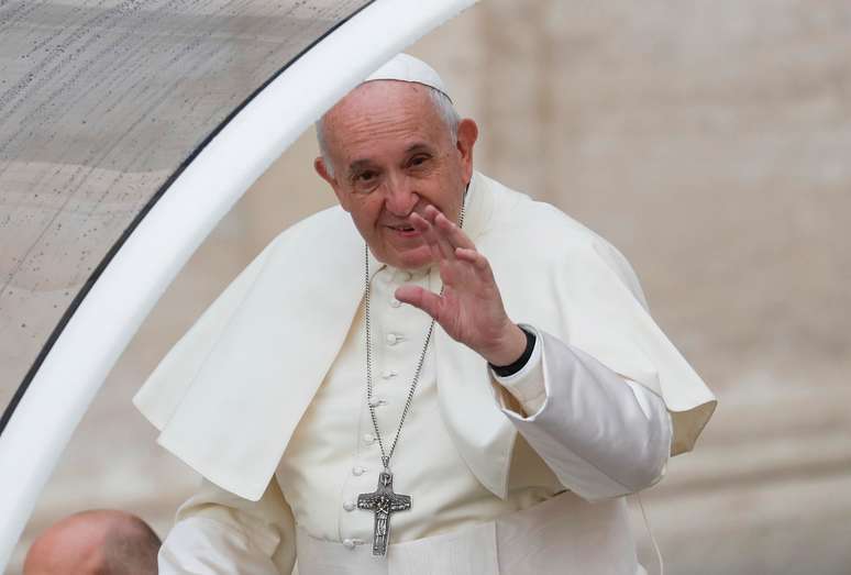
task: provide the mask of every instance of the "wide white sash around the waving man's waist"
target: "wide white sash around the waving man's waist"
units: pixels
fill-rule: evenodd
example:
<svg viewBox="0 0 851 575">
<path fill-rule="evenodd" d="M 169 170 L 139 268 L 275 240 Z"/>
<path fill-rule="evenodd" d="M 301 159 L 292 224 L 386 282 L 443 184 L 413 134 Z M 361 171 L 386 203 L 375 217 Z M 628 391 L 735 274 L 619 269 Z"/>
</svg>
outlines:
<svg viewBox="0 0 851 575">
<path fill-rule="evenodd" d="M 589 506 L 563 494 L 527 510 L 390 548 L 375 560 L 297 532 L 300 575 L 562 575 L 643 574 L 626 505 Z"/>
</svg>

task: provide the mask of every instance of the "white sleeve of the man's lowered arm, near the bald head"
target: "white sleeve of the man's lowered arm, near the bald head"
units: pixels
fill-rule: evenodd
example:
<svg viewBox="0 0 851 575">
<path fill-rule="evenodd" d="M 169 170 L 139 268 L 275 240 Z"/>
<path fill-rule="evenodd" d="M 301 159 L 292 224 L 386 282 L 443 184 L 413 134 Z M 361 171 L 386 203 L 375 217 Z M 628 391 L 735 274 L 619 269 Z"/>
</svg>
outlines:
<svg viewBox="0 0 851 575">
<path fill-rule="evenodd" d="M 205 480 L 175 521 L 159 549 L 161 575 L 292 572 L 295 521 L 275 478 L 258 501 Z"/>
</svg>

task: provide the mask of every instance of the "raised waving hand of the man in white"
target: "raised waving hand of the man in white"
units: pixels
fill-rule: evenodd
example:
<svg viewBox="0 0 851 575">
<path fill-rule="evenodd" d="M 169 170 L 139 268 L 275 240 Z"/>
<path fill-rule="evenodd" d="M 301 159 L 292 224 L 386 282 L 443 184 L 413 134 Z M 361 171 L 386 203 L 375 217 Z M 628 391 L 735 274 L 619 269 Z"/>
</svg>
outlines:
<svg viewBox="0 0 851 575">
<path fill-rule="evenodd" d="M 433 206 L 426 208 L 424 217 L 411 214 L 410 221 L 440 267 L 443 294 L 406 285 L 396 290 L 396 299 L 423 310 L 451 338 L 489 363 L 517 361 L 526 349 L 526 335 L 506 314 L 487 258 Z"/>
</svg>

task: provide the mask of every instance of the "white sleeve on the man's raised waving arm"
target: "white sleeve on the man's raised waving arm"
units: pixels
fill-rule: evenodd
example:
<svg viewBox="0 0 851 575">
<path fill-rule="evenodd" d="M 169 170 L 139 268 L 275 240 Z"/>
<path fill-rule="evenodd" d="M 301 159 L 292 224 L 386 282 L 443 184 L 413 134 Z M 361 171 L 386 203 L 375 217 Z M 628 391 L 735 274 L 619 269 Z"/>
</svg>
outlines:
<svg viewBox="0 0 851 575">
<path fill-rule="evenodd" d="M 528 364 L 494 379 L 523 412 L 502 406 L 566 488 L 588 500 L 650 487 L 671 452 L 671 417 L 662 398 L 582 350 L 534 332 Z M 625 385 L 626 384 L 626 385 Z"/>
</svg>

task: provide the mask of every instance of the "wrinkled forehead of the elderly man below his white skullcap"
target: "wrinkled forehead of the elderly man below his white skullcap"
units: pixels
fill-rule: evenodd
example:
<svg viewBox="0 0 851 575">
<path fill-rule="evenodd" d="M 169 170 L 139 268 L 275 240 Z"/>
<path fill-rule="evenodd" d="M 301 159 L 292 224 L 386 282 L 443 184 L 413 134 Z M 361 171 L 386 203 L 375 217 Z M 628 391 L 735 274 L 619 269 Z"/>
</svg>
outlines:
<svg viewBox="0 0 851 575">
<path fill-rule="evenodd" d="M 352 90 L 325 114 L 323 130 L 329 151 L 345 162 L 416 144 L 438 146 L 446 132 L 429 89 L 395 80 L 369 81 Z"/>
</svg>

